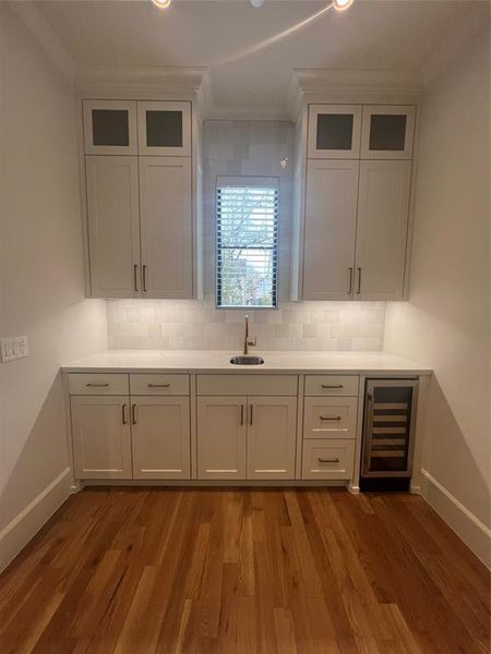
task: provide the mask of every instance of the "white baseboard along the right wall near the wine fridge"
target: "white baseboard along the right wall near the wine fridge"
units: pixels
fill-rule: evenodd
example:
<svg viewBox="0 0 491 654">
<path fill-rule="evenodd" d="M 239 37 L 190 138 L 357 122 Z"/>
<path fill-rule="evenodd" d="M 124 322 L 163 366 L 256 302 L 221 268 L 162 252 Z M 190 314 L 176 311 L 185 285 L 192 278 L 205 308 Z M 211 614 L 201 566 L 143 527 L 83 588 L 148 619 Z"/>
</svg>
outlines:
<svg viewBox="0 0 491 654">
<path fill-rule="evenodd" d="M 459 538 L 491 569 L 491 530 L 445 486 L 421 468 L 421 496 Z"/>
</svg>

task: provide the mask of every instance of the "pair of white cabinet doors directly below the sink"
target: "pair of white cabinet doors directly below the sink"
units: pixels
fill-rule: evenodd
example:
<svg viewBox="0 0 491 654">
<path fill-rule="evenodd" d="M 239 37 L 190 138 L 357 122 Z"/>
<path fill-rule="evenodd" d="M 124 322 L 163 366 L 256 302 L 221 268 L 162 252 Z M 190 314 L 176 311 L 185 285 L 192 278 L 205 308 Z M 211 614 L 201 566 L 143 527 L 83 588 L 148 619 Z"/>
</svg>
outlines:
<svg viewBox="0 0 491 654">
<path fill-rule="evenodd" d="M 197 398 L 201 480 L 292 480 L 296 438 L 297 398 Z"/>
</svg>

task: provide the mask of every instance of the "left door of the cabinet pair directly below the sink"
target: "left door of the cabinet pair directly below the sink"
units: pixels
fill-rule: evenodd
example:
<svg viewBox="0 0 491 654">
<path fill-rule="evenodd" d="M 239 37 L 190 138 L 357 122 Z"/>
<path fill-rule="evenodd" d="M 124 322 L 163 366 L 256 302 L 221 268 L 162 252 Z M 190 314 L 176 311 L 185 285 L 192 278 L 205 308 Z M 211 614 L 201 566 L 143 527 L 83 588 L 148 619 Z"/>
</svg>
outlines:
<svg viewBox="0 0 491 654">
<path fill-rule="evenodd" d="M 246 397 L 197 398 L 197 479 L 246 479 Z"/>
</svg>

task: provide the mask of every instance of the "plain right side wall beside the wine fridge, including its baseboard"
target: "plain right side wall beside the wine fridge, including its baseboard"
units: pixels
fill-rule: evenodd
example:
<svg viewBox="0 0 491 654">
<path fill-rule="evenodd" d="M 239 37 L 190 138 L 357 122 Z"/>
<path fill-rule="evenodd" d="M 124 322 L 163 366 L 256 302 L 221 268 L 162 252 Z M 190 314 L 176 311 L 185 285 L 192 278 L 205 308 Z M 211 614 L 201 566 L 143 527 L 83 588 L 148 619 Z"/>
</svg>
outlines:
<svg viewBox="0 0 491 654">
<path fill-rule="evenodd" d="M 489 22 L 488 22 L 489 23 Z M 426 95 L 410 296 L 387 304 L 385 349 L 434 368 L 423 469 L 439 512 L 489 562 L 489 27 Z"/>
</svg>

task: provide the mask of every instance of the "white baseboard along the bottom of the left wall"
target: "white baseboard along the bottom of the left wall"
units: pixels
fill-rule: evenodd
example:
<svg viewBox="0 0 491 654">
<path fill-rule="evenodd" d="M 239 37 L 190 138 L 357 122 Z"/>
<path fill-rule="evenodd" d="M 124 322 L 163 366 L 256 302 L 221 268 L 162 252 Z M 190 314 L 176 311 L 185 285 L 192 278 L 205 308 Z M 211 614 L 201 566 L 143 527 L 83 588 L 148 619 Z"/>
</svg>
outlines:
<svg viewBox="0 0 491 654">
<path fill-rule="evenodd" d="M 0 572 L 69 497 L 71 484 L 71 470 L 65 468 L 0 532 Z"/>
</svg>

